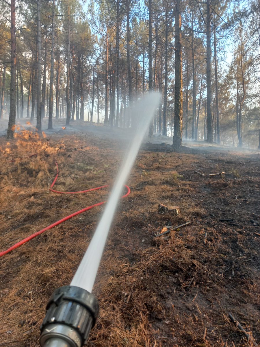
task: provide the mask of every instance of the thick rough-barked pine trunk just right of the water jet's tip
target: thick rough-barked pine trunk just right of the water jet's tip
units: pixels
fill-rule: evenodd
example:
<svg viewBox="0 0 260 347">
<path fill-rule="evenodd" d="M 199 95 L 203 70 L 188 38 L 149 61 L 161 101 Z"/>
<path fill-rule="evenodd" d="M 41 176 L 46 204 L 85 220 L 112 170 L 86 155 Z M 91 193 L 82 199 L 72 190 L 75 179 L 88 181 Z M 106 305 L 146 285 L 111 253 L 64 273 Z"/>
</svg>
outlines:
<svg viewBox="0 0 260 347">
<path fill-rule="evenodd" d="M 182 147 L 182 48 L 181 48 L 181 11 L 180 1 L 175 6 L 175 102 L 173 149 Z"/>
</svg>

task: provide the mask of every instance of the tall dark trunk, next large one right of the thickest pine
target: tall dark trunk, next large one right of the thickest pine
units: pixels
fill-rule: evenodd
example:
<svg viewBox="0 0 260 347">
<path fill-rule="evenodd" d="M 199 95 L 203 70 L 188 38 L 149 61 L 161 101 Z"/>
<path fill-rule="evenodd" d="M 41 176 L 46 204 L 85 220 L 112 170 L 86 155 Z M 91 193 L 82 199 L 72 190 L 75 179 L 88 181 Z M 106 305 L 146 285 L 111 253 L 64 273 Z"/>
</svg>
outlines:
<svg viewBox="0 0 260 347">
<path fill-rule="evenodd" d="M 213 127 L 211 113 L 211 47 L 210 47 L 210 30 L 211 30 L 211 13 L 210 0 L 207 0 L 207 18 L 206 18 L 206 36 L 207 36 L 207 57 L 206 57 L 206 74 L 207 74 L 207 142 L 213 142 Z"/>
</svg>

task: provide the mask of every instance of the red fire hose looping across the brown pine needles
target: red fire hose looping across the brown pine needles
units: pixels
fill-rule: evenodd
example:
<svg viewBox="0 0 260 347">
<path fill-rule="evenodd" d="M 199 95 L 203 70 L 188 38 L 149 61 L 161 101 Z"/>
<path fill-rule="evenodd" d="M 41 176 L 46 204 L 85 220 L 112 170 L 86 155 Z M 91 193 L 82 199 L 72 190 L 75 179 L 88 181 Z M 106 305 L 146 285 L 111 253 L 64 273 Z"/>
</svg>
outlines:
<svg viewBox="0 0 260 347">
<path fill-rule="evenodd" d="M 87 189 L 86 191 L 79 191 L 79 192 L 59 192 L 59 191 L 54 191 L 54 190 L 52 189 L 52 187 L 54 186 L 54 184 L 55 184 L 55 182 L 57 181 L 57 178 L 58 178 L 58 176 L 59 176 L 59 167 L 58 167 L 58 164 L 57 164 L 57 163 L 55 163 L 55 164 L 56 164 L 56 167 L 57 167 L 57 174 L 56 174 L 56 176 L 55 176 L 55 178 L 54 178 L 54 180 L 53 180 L 53 182 L 52 182 L 52 184 L 51 184 L 51 187 L 49 188 L 49 191 L 51 191 L 51 192 L 53 192 L 53 193 L 58 193 L 58 194 L 88 193 L 88 192 L 96 191 L 96 190 L 98 190 L 98 189 L 106 188 L 106 187 L 107 187 L 107 185 L 105 185 L 105 186 L 96 187 L 96 188 L 91 188 L 91 189 Z M 127 193 L 126 193 L 125 195 L 123 195 L 122 198 L 124 198 L 124 197 L 126 197 L 126 196 L 128 196 L 128 195 L 130 194 L 130 188 L 129 188 L 128 186 L 126 186 L 126 185 L 125 185 L 125 187 L 127 188 Z M 51 228 L 53 228 L 53 227 L 59 225 L 60 223 L 63 223 L 63 222 L 65 222 L 66 220 L 68 220 L 68 219 L 70 219 L 70 218 L 72 218 L 72 217 L 75 217 L 76 215 L 78 215 L 78 214 L 80 214 L 80 213 L 83 213 L 83 212 L 86 212 L 86 211 L 88 211 L 88 210 L 91 210 L 91 209 L 93 209 L 93 207 L 103 205 L 105 202 L 106 202 L 106 201 L 102 201 L 102 202 L 99 202 L 99 203 L 94 204 L 94 205 L 92 205 L 92 206 L 88 206 L 88 207 L 86 207 L 85 209 L 82 209 L 82 210 L 79 210 L 79 211 L 77 211 L 77 212 L 74 212 L 74 213 L 68 215 L 67 217 L 64 217 L 64 218 L 58 220 L 57 222 L 52 223 L 51 225 L 47 226 L 46 228 L 44 228 L 44 229 L 42 229 L 42 230 L 40 230 L 40 231 L 37 231 L 37 232 L 35 232 L 34 234 L 32 234 L 32 235 L 26 237 L 25 239 L 23 239 L 23 240 L 17 242 L 15 245 L 13 245 L 13 246 L 11 246 L 10 248 L 6 249 L 6 251 L 0 252 L 0 257 L 3 256 L 3 255 L 5 255 L 5 254 L 7 254 L 7 253 L 9 253 L 9 252 L 11 252 L 13 249 L 15 249 L 15 248 L 17 248 L 17 247 L 23 245 L 24 243 L 26 243 L 26 242 L 32 240 L 34 237 L 36 237 L 36 236 L 42 234 L 42 232 L 44 232 L 44 231 L 46 231 L 46 230 L 49 230 L 49 229 L 51 229 Z"/>
</svg>

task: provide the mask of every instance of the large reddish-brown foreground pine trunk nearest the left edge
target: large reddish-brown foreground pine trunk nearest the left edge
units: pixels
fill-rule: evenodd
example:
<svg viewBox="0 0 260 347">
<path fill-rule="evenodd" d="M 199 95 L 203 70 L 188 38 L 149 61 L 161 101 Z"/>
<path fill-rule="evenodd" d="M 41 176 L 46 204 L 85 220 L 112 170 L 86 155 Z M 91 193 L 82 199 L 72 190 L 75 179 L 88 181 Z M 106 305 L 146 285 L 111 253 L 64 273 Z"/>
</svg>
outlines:
<svg viewBox="0 0 260 347">
<path fill-rule="evenodd" d="M 15 0 L 11 0 L 11 70 L 10 70 L 10 113 L 7 138 L 14 138 L 15 126 L 15 75 L 16 75 L 16 42 L 15 42 Z"/>
</svg>

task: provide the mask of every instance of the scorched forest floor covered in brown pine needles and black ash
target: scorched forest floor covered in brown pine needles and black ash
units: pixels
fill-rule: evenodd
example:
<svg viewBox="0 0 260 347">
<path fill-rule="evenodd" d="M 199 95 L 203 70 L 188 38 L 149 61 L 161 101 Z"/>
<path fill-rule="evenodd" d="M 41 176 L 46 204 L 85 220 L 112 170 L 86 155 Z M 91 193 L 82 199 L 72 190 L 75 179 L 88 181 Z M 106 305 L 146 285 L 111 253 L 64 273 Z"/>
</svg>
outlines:
<svg viewBox="0 0 260 347">
<path fill-rule="evenodd" d="M 0 251 L 107 199 L 109 189 L 49 192 L 55 162 L 54 189 L 112 185 L 131 133 L 77 122 L 62 129 L 62 122 L 43 137 L 29 125 L 15 140 L 0 137 Z M 155 136 L 137 156 L 131 193 L 118 205 L 99 267 L 93 293 L 100 312 L 87 346 L 260 344 L 260 154 L 203 142 L 173 153 L 165 144 L 171 142 Z M 209 176 L 219 172 L 225 174 Z M 180 206 L 180 214 L 158 213 L 159 203 Z M 38 346 L 45 305 L 55 288 L 70 283 L 103 209 L 0 258 L 1 347 Z"/>
</svg>

